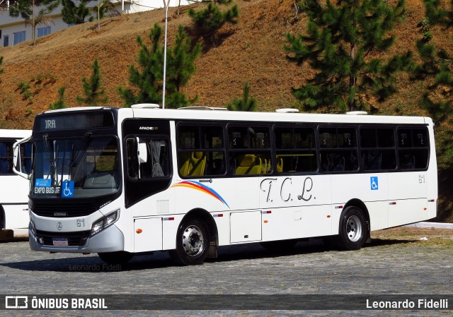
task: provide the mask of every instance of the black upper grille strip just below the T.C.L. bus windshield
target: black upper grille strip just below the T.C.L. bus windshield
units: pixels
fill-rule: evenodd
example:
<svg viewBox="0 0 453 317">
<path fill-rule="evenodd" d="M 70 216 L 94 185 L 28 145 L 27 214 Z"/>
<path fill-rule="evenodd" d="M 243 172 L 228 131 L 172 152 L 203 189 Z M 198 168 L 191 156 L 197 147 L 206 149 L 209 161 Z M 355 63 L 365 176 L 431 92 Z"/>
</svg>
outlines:
<svg viewBox="0 0 453 317">
<path fill-rule="evenodd" d="M 72 205 L 72 204 L 33 204 L 32 211 L 41 217 L 83 217 L 91 215 L 98 208 L 91 204 Z"/>
</svg>

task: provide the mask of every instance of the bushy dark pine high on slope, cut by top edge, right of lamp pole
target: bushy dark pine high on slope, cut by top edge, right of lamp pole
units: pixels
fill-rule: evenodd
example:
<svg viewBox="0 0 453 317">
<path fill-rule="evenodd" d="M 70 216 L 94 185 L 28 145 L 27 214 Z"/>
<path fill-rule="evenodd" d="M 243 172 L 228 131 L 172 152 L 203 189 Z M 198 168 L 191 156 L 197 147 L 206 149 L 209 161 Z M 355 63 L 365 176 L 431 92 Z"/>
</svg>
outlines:
<svg viewBox="0 0 453 317">
<path fill-rule="evenodd" d="M 236 18 L 239 17 L 239 9 L 235 4 L 228 10 L 222 12 L 219 9 L 219 6 L 216 5 L 216 2 L 219 4 L 230 4 L 231 0 L 218 0 L 214 3 L 209 3 L 207 8 L 200 11 L 195 11 L 193 8 L 189 10 L 189 16 L 192 18 L 195 23 L 195 27 L 200 31 L 200 33 L 205 38 L 209 38 L 214 45 L 215 36 L 217 31 L 222 28 L 222 25 L 225 23 L 238 23 Z"/>
</svg>

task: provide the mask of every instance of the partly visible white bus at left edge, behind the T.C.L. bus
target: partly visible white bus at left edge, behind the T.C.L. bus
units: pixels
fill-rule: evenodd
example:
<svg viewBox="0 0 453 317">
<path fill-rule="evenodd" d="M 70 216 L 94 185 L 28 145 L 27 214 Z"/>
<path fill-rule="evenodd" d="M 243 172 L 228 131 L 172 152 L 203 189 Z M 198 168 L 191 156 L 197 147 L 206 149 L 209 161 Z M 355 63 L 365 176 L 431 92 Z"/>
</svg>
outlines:
<svg viewBox="0 0 453 317">
<path fill-rule="evenodd" d="M 13 172 L 13 144 L 31 136 L 30 130 L 0 129 L 0 229 L 27 228 L 29 183 Z M 31 148 L 22 145 L 23 172 L 30 172 Z"/>
</svg>

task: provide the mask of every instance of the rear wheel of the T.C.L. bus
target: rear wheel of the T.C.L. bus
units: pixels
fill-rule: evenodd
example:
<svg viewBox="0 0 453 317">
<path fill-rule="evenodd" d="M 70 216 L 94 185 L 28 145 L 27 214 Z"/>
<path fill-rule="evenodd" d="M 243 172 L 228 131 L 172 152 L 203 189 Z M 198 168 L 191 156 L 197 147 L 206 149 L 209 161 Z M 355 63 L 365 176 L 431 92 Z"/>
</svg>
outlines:
<svg viewBox="0 0 453 317">
<path fill-rule="evenodd" d="M 362 248 L 369 237 L 367 221 L 360 208 L 349 206 L 340 217 L 338 245 L 345 250 Z"/>
</svg>

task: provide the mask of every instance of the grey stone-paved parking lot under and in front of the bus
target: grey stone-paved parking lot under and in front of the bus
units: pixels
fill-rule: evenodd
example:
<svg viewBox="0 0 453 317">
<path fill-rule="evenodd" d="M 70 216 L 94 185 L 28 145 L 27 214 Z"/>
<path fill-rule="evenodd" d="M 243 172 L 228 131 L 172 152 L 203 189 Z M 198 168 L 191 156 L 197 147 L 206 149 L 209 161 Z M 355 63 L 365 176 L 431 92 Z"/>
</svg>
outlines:
<svg viewBox="0 0 453 317">
<path fill-rule="evenodd" d="M 453 237 L 453 232 L 449 232 Z M 161 252 L 137 256 L 122 267 L 109 266 L 93 254 L 33 252 L 26 241 L 1 243 L 0 253 L 1 294 L 173 294 L 175 297 L 453 294 L 451 246 L 425 246 L 423 241 L 414 243 L 404 239 L 374 239 L 359 251 L 332 251 L 320 240 L 299 242 L 287 252 L 270 252 L 259 244 L 228 246 L 219 249 L 219 258 L 191 267 L 173 265 L 169 256 Z M 449 307 L 453 307 L 453 301 Z M 0 311 L 1 316 L 127 316 L 131 313 Z M 153 311 L 152 316 L 452 316 L 452 313 L 453 308 L 448 311 L 193 310 Z M 133 314 L 149 316 L 145 311 Z"/>
</svg>

